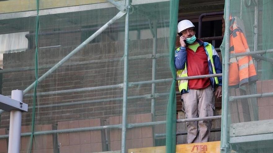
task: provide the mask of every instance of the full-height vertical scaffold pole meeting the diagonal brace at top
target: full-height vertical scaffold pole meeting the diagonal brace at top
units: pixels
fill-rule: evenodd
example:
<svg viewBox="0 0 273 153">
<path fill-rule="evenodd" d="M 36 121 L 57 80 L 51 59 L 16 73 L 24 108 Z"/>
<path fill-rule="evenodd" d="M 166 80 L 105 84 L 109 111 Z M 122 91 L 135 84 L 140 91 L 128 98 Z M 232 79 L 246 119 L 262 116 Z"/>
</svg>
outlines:
<svg viewBox="0 0 273 153">
<path fill-rule="evenodd" d="M 127 92 L 128 92 L 128 41 L 129 41 L 129 0 L 125 1 L 127 6 L 127 14 L 125 17 L 125 36 L 124 36 L 124 74 L 123 74 L 123 108 L 122 108 L 122 136 L 121 136 L 121 153 L 126 153 L 126 128 L 127 128 Z"/>
</svg>

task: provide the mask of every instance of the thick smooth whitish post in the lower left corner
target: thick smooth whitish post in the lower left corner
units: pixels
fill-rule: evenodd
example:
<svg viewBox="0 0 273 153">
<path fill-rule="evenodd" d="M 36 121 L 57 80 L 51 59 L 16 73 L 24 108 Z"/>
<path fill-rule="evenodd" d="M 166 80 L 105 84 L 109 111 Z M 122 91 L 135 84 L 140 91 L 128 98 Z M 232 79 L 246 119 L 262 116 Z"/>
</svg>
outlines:
<svg viewBox="0 0 273 153">
<path fill-rule="evenodd" d="M 23 91 L 12 90 L 11 98 L 23 102 Z M 20 152 L 22 112 L 11 110 L 8 153 Z"/>
</svg>

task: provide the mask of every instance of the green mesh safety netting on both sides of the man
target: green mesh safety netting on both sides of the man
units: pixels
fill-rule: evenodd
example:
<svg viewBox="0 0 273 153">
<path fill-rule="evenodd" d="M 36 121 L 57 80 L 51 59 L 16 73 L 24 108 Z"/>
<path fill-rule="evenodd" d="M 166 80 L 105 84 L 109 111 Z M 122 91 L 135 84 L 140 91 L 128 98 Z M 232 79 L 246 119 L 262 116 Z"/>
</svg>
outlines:
<svg viewBox="0 0 273 153">
<path fill-rule="evenodd" d="M 0 1 L 1 94 L 22 90 L 29 105 L 20 151 L 175 152 L 178 3 L 132 1 L 127 15 L 100 0 Z M 270 0 L 225 1 L 232 35 L 221 47 L 224 152 L 272 149 L 272 7 Z M 236 36 L 248 47 L 238 50 Z M 0 152 L 7 152 L 10 116 L 0 112 Z"/>
</svg>

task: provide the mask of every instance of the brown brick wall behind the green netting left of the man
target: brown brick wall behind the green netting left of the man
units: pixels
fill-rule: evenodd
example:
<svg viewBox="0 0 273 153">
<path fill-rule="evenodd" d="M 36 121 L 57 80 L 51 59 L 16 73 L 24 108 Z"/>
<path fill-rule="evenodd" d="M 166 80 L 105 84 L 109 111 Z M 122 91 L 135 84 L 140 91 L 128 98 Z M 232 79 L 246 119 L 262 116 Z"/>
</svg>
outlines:
<svg viewBox="0 0 273 153">
<path fill-rule="evenodd" d="M 41 67 L 53 65 L 70 53 L 76 46 L 39 49 L 38 64 L 39 76 L 48 69 Z M 88 44 L 84 49 L 68 60 L 71 62 L 88 62 L 91 60 L 105 60 L 107 62 L 95 62 L 74 66 L 62 66 L 50 74 L 47 79 L 38 84 L 38 93 L 58 91 L 84 87 L 97 87 L 123 83 L 123 41 L 109 43 Z M 132 40 L 129 43 L 129 57 L 152 53 L 152 39 Z M 168 40 L 158 39 L 157 53 L 168 53 Z M 110 61 L 120 58 L 119 61 Z M 4 54 L 4 69 L 34 67 L 34 50 L 26 50 L 19 53 Z M 129 82 L 151 80 L 152 60 L 129 60 Z M 168 57 L 157 58 L 156 79 L 171 78 Z M 34 70 L 16 71 L 3 74 L 2 94 L 10 95 L 11 90 L 24 90 L 34 82 Z M 168 92 L 170 83 L 156 84 L 156 93 Z M 29 93 L 32 93 L 30 91 Z M 151 93 L 151 84 L 135 85 L 129 87 L 128 96 L 146 95 Z M 74 92 L 66 94 L 51 94 L 38 96 L 37 105 L 50 105 L 60 103 L 76 103 L 78 101 L 122 98 L 123 88 L 109 88 L 93 91 Z M 159 97 L 156 100 L 156 115 L 166 114 L 167 97 Z M 149 113 L 151 99 L 128 99 L 128 114 Z M 32 96 L 25 96 L 24 102 L 32 106 Z M 141 108 L 141 109 L 140 109 Z M 31 112 L 23 113 L 22 125 L 30 125 Z M 83 120 L 101 118 L 107 120 L 112 116 L 122 114 L 122 100 L 108 100 L 100 103 L 76 104 L 61 107 L 47 107 L 36 109 L 36 124 L 57 124 L 60 121 Z M 9 113 L 2 113 L 1 127 L 8 127 Z"/>
</svg>

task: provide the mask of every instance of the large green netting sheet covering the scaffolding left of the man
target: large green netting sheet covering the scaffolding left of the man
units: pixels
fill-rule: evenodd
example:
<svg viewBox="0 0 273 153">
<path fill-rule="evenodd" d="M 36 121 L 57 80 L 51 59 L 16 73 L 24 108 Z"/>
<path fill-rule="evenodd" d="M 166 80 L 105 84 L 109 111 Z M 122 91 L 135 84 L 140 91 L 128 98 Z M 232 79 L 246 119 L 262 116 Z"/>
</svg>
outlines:
<svg viewBox="0 0 273 153">
<path fill-rule="evenodd" d="M 176 82 L 169 41 L 175 44 L 178 4 L 171 6 L 175 14 L 167 0 L 130 4 L 127 13 L 106 1 L 0 1 L 7 8 L 0 13 L 1 94 L 22 90 L 29 106 L 22 113 L 20 152 L 165 146 L 166 120 L 173 152 Z M 0 152 L 7 152 L 8 112 L 1 111 L 0 130 Z"/>
</svg>

